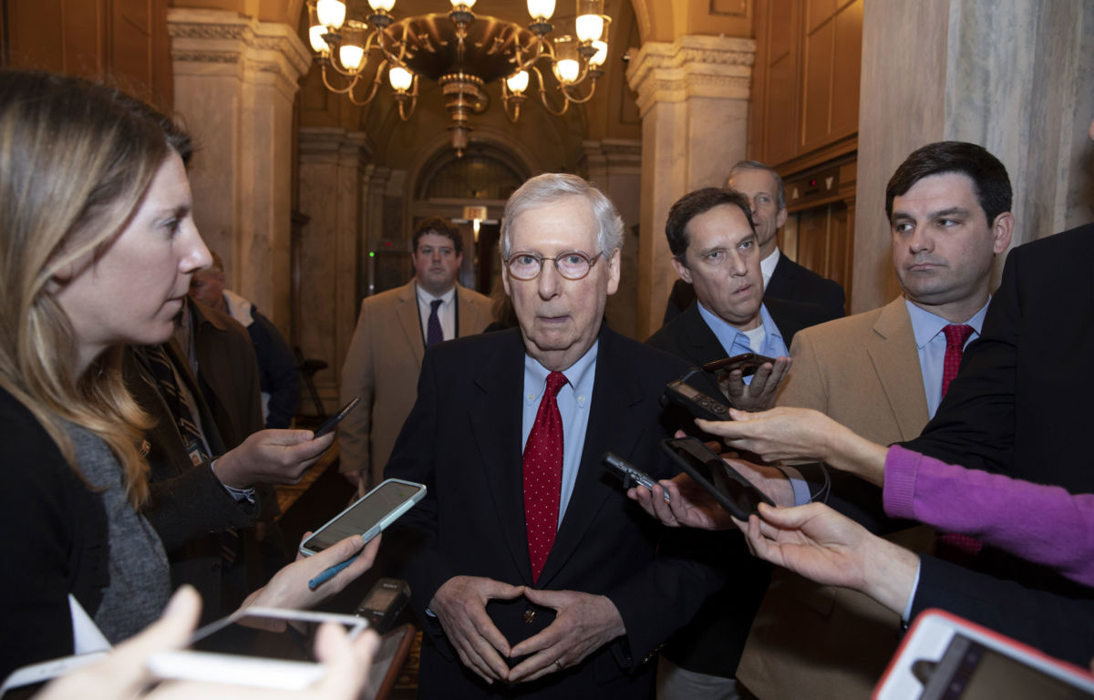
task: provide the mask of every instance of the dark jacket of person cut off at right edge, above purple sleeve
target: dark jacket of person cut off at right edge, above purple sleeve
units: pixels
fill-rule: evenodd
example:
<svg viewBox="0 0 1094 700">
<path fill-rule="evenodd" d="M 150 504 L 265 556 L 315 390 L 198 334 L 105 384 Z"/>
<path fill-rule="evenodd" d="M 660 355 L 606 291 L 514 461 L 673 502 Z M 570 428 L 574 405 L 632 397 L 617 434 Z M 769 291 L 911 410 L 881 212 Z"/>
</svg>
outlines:
<svg viewBox="0 0 1094 700">
<path fill-rule="evenodd" d="M 1011 250 L 980 338 L 910 450 L 1094 491 L 1094 224 Z"/>
</svg>

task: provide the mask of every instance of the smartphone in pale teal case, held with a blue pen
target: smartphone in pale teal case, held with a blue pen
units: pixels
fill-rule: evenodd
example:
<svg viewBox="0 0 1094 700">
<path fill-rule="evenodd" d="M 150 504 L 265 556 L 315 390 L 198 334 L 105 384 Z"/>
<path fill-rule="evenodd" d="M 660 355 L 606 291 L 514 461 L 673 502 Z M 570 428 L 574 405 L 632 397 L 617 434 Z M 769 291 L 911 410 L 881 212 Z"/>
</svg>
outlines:
<svg viewBox="0 0 1094 700">
<path fill-rule="evenodd" d="M 350 535 L 360 535 L 368 542 L 424 495 L 422 483 L 387 479 L 315 530 L 301 544 L 300 552 L 311 557 Z"/>
</svg>

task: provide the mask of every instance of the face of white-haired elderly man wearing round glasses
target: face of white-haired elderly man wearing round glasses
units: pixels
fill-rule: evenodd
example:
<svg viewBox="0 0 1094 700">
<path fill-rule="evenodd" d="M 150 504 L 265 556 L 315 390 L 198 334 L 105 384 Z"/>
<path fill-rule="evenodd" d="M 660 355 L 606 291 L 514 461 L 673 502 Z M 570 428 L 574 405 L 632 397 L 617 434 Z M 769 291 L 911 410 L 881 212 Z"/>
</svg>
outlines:
<svg viewBox="0 0 1094 700">
<path fill-rule="evenodd" d="M 528 209 L 511 225 L 510 256 L 537 253 L 554 258 L 579 252 L 592 258 L 600 253 L 600 226 L 584 197 L 563 197 Z M 548 370 L 562 371 L 596 341 L 604 304 L 619 287 L 619 250 L 610 258 L 597 258 L 584 279 L 568 280 L 554 262 L 544 260 L 539 277 L 533 280 L 513 279 L 503 268 L 502 283 L 513 302 L 528 354 Z"/>
</svg>

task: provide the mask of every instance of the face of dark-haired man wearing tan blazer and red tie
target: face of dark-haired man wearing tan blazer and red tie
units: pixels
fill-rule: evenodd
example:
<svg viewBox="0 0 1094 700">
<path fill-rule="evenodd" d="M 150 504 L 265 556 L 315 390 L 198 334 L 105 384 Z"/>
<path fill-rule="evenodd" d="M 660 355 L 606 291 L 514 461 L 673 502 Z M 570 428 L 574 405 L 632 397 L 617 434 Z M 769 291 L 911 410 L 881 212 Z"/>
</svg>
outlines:
<svg viewBox="0 0 1094 700">
<path fill-rule="evenodd" d="M 989 222 L 968 175 L 922 178 L 893 198 L 891 223 L 893 266 L 912 303 L 984 305 L 993 256 L 1010 244 L 1013 218 L 1004 212 Z"/>
</svg>

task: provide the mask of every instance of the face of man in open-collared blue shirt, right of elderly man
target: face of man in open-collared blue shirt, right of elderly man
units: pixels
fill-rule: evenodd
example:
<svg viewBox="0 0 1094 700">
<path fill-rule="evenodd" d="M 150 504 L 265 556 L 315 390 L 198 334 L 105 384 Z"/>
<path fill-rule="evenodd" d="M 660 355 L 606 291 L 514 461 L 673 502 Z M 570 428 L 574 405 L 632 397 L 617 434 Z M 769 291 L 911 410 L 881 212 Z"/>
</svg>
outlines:
<svg viewBox="0 0 1094 700">
<path fill-rule="evenodd" d="M 758 327 L 764 278 L 756 234 L 744 212 L 720 205 L 688 222 L 687 234 L 684 261 L 673 258 L 676 272 L 695 285 L 707 311 L 741 330 Z"/>
</svg>

